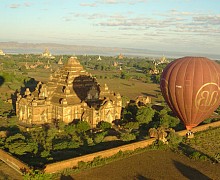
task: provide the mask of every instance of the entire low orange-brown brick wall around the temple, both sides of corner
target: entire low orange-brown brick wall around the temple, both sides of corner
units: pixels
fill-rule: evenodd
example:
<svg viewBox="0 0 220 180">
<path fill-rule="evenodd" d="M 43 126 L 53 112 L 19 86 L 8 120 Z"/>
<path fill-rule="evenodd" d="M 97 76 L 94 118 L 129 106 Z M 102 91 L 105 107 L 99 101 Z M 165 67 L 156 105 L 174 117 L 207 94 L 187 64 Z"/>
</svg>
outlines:
<svg viewBox="0 0 220 180">
<path fill-rule="evenodd" d="M 220 126 L 220 121 L 217 121 L 217 122 L 213 122 L 213 123 L 209 123 L 209 124 L 195 127 L 195 128 L 193 128 L 192 131 L 199 132 L 199 131 L 207 130 L 210 127 L 219 127 L 219 126 Z M 180 136 L 185 136 L 187 133 L 187 130 L 178 131 L 176 133 L 179 134 Z M 139 141 L 139 142 L 119 146 L 116 148 L 112 148 L 112 149 L 108 149 L 108 150 L 104 150 L 104 151 L 99 151 L 96 153 L 92 153 L 92 154 L 88 154 L 88 155 L 84 155 L 84 156 L 80 156 L 80 157 L 71 158 L 71 159 L 67 159 L 64 161 L 48 164 L 45 166 L 44 172 L 45 173 L 56 173 L 58 171 L 62 171 L 64 169 L 66 169 L 66 168 L 76 167 L 78 165 L 78 162 L 80 162 L 80 161 L 89 162 L 98 156 L 101 158 L 105 158 L 105 157 L 113 156 L 114 154 L 118 153 L 119 151 L 134 151 L 137 148 L 145 148 L 145 147 L 153 144 L 153 142 L 155 140 L 156 140 L 156 138 L 151 138 L 148 140 Z M 14 156 L 5 152 L 2 149 L 0 149 L 0 159 L 3 162 L 5 162 L 7 165 L 12 167 L 14 170 L 19 172 L 20 174 L 22 174 L 25 171 L 30 170 L 30 168 L 25 163 L 18 160 L 17 158 L 15 158 Z"/>
</svg>

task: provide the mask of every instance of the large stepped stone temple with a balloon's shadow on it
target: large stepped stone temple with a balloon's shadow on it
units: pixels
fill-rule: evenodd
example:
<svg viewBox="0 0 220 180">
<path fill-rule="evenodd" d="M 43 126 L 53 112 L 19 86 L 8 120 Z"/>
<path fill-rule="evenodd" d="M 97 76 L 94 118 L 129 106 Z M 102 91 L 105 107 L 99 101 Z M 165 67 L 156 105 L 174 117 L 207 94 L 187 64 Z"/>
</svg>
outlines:
<svg viewBox="0 0 220 180">
<path fill-rule="evenodd" d="M 96 127 L 100 121 L 120 119 L 121 108 L 120 94 L 106 84 L 100 86 L 76 57 L 52 74 L 48 83 L 39 82 L 33 92 L 27 88 L 24 94 L 18 93 L 16 101 L 16 114 L 24 125 L 81 120 Z"/>
</svg>

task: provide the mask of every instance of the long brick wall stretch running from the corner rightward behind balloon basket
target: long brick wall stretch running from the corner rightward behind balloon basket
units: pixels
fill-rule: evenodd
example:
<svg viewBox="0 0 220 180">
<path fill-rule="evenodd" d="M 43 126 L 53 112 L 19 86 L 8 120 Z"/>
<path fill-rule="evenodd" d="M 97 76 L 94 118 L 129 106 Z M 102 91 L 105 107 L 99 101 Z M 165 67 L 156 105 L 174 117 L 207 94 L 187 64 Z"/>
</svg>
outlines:
<svg viewBox="0 0 220 180">
<path fill-rule="evenodd" d="M 218 127 L 218 126 L 220 126 L 220 121 L 195 127 L 195 128 L 193 128 L 192 131 L 199 132 L 199 131 L 204 131 L 204 130 L 208 129 L 209 127 Z M 185 136 L 186 133 L 187 133 L 187 130 L 177 132 L 177 134 L 179 134 L 180 136 Z M 89 162 L 98 156 L 100 156 L 101 158 L 105 158 L 105 157 L 113 156 L 114 154 L 118 153 L 119 151 L 133 151 L 137 148 L 144 148 L 144 147 L 147 147 L 147 146 L 153 144 L 153 142 L 155 140 L 156 140 L 156 138 L 151 138 L 151 139 L 147 139 L 144 141 L 139 141 L 139 142 L 135 142 L 135 143 L 127 144 L 127 145 L 122 145 L 122 146 L 119 146 L 116 148 L 112 148 L 112 149 L 108 149 L 108 150 L 104 150 L 104 151 L 99 151 L 96 153 L 92 153 L 92 154 L 88 154 L 88 155 L 84 155 L 84 156 L 80 156 L 80 157 L 48 164 L 48 165 L 46 165 L 44 172 L 45 173 L 55 173 L 55 172 L 64 170 L 66 168 L 76 167 L 78 165 L 78 162 L 80 162 L 80 161 Z"/>
</svg>

